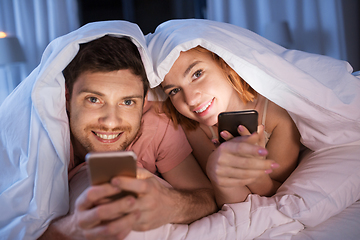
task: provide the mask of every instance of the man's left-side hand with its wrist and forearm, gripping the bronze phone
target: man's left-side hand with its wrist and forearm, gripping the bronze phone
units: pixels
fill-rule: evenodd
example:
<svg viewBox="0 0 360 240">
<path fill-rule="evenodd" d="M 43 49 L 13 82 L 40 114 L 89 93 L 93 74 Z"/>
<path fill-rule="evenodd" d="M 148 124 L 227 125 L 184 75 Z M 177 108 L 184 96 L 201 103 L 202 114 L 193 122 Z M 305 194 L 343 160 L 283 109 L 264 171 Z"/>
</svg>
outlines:
<svg viewBox="0 0 360 240">
<path fill-rule="evenodd" d="M 110 184 L 88 187 L 77 198 L 74 213 L 53 221 L 39 239 L 124 239 L 140 215 L 129 211 L 132 196 L 107 200 L 119 192 Z"/>
</svg>

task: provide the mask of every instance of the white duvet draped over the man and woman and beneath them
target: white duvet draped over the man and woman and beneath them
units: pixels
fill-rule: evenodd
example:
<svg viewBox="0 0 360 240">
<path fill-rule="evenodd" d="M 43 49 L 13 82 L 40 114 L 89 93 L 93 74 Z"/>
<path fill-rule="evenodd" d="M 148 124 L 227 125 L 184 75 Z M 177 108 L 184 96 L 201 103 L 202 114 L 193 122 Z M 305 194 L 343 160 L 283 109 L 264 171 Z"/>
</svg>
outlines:
<svg viewBox="0 0 360 240">
<path fill-rule="evenodd" d="M 287 109 L 302 142 L 315 151 L 303 158 L 274 197 L 250 195 L 246 202 L 225 205 L 191 225 L 167 224 L 131 232 L 128 239 L 286 239 L 360 198 L 360 88 L 349 64 L 286 51 L 224 23 L 173 21 L 160 29 L 164 35 L 147 39 L 152 40 L 148 44 L 158 77 L 135 24 L 93 23 L 54 40 L 40 65 L 1 105 L 0 239 L 36 239 L 52 219 L 67 213 L 70 151 L 61 71 L 79 43 L 107 33 L 132 37 L 153 87 L 180 50 L 200 44 L 216 52 L 259 93 Z"/>
</svg>

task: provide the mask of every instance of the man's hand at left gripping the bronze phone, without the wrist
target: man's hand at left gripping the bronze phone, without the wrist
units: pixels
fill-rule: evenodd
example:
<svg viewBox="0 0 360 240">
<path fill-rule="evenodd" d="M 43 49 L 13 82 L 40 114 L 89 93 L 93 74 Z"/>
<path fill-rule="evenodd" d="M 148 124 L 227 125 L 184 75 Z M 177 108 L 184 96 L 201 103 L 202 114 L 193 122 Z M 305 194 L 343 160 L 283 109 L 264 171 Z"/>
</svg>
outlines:
<svg viewBox="0 0 360 240">
<path fill-rule="evenodd" d="M 75 203 L 76 225 L 86 239 L 123 239 L 139 218 L 139 211 L 130 211 L 135 198 L 127 196 L 116 201 L 106 197 L 121 190 L 110 185 L 93 186 L 85 190 Z"/>
</svg>

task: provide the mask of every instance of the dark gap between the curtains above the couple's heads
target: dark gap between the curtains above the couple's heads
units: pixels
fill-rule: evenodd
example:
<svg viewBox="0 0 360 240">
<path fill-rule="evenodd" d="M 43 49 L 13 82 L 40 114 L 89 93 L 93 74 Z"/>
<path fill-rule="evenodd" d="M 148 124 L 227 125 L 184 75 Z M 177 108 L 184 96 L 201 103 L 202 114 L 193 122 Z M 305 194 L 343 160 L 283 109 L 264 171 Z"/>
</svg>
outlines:
<svg viewBox="0 0 360 240">
<path fill-rule="evenodd" d="M 80 24 L 127 20 L 146 35 L 175 18 L 204 18 L 206 0 L 79 0 Z"/>
</svg>

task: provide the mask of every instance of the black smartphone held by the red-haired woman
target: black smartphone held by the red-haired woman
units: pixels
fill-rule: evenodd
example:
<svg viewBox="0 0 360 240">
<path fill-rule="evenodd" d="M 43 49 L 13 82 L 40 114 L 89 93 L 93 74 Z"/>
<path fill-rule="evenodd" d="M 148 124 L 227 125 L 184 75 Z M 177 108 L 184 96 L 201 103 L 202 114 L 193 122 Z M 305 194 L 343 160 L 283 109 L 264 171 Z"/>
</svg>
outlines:
<svg viewBox="0 0 360 240">
<path fill-rule="evenodd" d="M 224 130 L 231 133 L 234 137 L 240 136 L 238 133 L 238 126 L 245 126 L 250 133 L 257 131 L 258 126 L 258 112 L 255 110 L 237 111 L 237 112 L 222 112 L 218 116 L 218 133 L 219 142 L 225 140 L 220 136 Z"/>
</svg>

